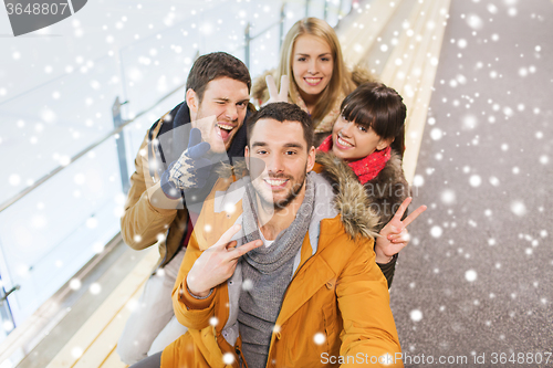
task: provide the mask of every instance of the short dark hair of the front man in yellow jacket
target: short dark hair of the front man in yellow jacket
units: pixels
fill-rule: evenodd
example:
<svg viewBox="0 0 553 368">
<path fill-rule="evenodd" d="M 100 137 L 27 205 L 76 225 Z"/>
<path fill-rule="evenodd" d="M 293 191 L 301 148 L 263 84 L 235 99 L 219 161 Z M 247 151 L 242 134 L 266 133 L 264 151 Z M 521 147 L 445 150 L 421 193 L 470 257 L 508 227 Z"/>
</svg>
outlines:
<svg viewBox="0 0 553 368">
<path fill-rule="evenodd" d="M 289 103 L 273 103 L 268 104 L 259 109 L 259 112 L 251 115 L 246 122 L 246 134 L 247 144 L 250 147 L 251 132 L 255 126 L 255 123 L 260 119 L 270 118 L 276 122 L 284 123 L 288 122 L 299 122 L 302 125 L 303 138 L 307 143 L 307 151 L 313 146 L 313 122 L 307 113 L 301 109 L 300 106 Z M 284 134 L 284 132 L 283 132 Z"/>
</svg>

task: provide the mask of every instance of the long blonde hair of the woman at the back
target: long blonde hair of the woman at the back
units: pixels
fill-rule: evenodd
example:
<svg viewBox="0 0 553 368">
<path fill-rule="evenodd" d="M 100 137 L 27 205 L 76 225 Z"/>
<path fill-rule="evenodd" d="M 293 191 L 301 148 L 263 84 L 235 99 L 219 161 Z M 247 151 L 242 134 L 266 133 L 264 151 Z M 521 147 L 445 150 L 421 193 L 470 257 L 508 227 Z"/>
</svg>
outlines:
<svg viewBox="0 0 553 368">
<path fill-rule="evenodd" d="M 293 50 L 295 40 L 302 34 L 311 34 L 316 38 L 324 40 L 332 51 L 332 60 L 334 62 L 334 67 L 332 71 L 332 77 L 328 85 L 324 88 L 315 107 L 311 112 L 311 118 L 316 125 L 323 119 L 326 114 L 334 106 L 340 93 L 344 95 L 349 94 L 355 90 L 355 84 L 352 82 L 352 77 L 347 67 L 344 63 L 344 57 L 342 56 L 342 48 L 340 46 L 338 38 L 336 33 L 325 21 L 317 18 L 304 18 L 295 22 L 294 25 L 288 31 L 286 36 L 282 43 L 280 63 L 276 70 L 276 83 L 280 90 L 280 77 L 282 75 L 288 75 L 290 83 L 293 86 L 290 88 L 290 97 L 292 102 L 298 102 L 299 87 L 295 83 L 292 63 L 293 63 Z"/>
</svg>

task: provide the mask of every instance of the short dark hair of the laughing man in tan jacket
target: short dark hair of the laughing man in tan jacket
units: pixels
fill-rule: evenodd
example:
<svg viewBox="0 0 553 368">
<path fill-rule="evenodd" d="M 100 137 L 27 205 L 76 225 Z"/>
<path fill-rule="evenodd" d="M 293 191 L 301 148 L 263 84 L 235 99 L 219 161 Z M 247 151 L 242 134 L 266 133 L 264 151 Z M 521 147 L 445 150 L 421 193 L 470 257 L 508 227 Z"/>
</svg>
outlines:
<svg viewBox="0 0 553 368">
<path fill-rule="evenodd" d="M 196 92 L 201 102 L 207 84 L 223 76 L 246 83 L 248 93 L 250 92 L 251 78 L 248 67 L 240 60 L 226 52 L 212 52 L 199 56 L 188 73 L 186 90 L 191 88 Z"/>
</svg>

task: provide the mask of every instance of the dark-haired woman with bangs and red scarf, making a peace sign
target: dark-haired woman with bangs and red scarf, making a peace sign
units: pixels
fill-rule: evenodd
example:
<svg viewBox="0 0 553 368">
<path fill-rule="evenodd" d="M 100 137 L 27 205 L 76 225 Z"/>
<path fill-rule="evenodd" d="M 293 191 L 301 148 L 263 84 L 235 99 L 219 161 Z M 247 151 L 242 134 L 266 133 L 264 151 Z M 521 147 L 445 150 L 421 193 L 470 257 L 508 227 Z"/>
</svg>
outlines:
<svg viewBox="0 0 553 368">
<path fill-rule="evenodd" d="M 407 224 L 426 210 L 404 217 L 410 203 L 409 185 L 401 169 L 407 108 L 401 96 L 382 83 L 364 83 L 341 105 L 332 134 L 319 147 L 317 171 L 338 192 L 358 192 L 361 208 L 376 215 L 376 262 L 388 281 L 398 252 L 409 236 Z M 340 159 L 336 159 L 340 158 Z M 401 220 L 401 218 L 404 218 Z"/>
</svg>

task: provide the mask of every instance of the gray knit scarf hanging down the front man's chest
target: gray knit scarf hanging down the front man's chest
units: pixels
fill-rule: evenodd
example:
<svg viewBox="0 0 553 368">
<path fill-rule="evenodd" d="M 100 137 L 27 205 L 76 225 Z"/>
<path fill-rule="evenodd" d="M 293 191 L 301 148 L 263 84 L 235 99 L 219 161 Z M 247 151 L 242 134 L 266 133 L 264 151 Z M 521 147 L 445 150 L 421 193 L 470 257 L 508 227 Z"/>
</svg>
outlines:
<svg viewBox="0 0 553 368">
<path fill-rule="evenodd" d="M 313 174 L 305 178 L 305 198 L 294 221 L 282 231 L 271 246 L 257 248 L 242 256 L 243 285 L 238 312 L 242 350 L 248 367 L 264 367 L 271 335 L 279 316 L 284 292 L 292 280 L 294 257 L 309 230 L 315 187 Z M 255 191 L 247 185 L 242 199 L 242 244 L 260 239 Z"/>
</svg>

